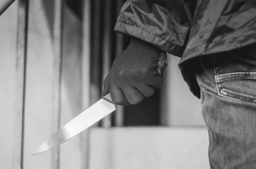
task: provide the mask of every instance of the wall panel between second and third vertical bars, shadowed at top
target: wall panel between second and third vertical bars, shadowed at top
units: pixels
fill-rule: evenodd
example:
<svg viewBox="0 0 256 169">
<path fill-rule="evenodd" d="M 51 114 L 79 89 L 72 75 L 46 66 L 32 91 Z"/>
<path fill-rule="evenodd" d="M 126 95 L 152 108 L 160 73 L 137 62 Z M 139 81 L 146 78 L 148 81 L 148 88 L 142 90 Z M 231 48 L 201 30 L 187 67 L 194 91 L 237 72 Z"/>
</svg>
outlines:
<svg viewBox="0 0 256 169">
<path fill-rule="evenodd" d="M 81 113 L 81 21 L 64 7 L 61 73 L 61 126 Z M 61 145 L 60 168 L 84 169 L 82 135 Z"/>
</svg>

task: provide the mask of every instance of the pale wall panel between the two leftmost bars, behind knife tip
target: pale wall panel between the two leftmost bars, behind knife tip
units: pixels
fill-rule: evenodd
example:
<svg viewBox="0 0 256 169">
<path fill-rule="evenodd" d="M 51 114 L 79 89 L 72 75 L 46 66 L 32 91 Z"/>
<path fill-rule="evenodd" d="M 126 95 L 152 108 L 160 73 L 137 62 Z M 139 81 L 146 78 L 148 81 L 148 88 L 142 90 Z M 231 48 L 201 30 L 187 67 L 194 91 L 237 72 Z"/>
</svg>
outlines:
<svg viewBox="0 0 256 169">
<path fill-rule="evenodd" d="M 26 71 L 24 169 L 52 169 L 52 151 L 31 156 L 55 130 L 53 72 L 55 46 L 52 40 L 52 0 L 31 0 Z"/>
</svg>

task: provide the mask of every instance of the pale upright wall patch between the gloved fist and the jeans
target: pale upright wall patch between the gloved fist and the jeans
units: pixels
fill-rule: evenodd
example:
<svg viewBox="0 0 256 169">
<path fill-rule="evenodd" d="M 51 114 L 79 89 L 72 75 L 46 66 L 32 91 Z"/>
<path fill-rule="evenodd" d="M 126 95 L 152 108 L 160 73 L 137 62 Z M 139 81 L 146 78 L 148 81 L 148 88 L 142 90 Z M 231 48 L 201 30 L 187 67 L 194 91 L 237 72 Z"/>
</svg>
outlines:
<svg viewBox="0 0 256 169">
<path fill-rule="evenodd" d="M 162 124 L 167 126 L 205 126 L 200 100 L 183 80 L 177 66 L 180 58 L 168 54 L 161 98 Z"/>
</svg>

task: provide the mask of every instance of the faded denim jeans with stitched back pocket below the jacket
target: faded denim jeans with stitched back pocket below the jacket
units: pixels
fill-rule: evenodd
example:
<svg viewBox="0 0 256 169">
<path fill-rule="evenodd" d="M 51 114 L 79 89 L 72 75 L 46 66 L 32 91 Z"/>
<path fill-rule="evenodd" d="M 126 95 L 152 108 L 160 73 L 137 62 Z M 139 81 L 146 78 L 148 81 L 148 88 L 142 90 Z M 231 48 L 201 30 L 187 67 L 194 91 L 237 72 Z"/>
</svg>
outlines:
<svg viewBox="0 0 256 169">
<path fill-rule="evenodd" d="M 211 169 L 256 169 L 256 52 L 198 58 Z"/>
</svg>

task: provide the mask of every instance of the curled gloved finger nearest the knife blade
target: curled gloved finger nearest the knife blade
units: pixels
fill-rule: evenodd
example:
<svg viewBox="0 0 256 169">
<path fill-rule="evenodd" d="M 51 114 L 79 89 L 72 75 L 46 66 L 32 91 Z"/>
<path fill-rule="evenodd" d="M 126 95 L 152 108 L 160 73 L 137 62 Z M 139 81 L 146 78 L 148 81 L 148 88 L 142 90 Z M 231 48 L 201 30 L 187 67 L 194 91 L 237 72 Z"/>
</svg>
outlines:
<svg viewBox="0 0 256 169">
<path fill-rule="evenodd" d="M 128 100 L 125 98 L 124 93 L 118 86 L 110 85 L 110 96 L 113 103 L 115 103 L 116 105 L 121 105 L 121 106 L 130 105 Z"/>
</svg>

